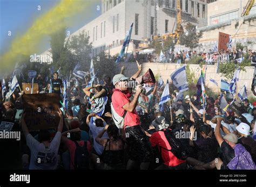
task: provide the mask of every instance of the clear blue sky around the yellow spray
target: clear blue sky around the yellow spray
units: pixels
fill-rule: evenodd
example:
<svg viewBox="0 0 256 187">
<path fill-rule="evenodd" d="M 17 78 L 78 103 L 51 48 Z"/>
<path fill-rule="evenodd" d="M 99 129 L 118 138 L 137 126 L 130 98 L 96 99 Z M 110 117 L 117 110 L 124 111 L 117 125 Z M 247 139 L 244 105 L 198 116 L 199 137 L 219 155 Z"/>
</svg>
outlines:
<svg viewBox="0 0 256 187">
<path fill-rule="evenodd" d="M 73 33 L 80 27 L 89 23 L 98 17 L 101 13 L 96 10 L 97 5 L 101 6 L 100 0 L 73 0 L 73 1 L 93 1 L 90 9 L 91 13 L 86 12 L 76 15 L 73 21 L 70 21 L 68 30 Z M 0 55 L 8 51 L 12 40 L 18 35 L 22 35 L 28 30 L 39 16 L 58 4 L 60 0 L 0 0 Z M 38 10 L 40 9 L 40 10 Z M 11 35 L 10 32 L 11 31 Z M 50 37 L 45 37 L 41 44 L 42 51 L 50 48 Z"/>
</svg>

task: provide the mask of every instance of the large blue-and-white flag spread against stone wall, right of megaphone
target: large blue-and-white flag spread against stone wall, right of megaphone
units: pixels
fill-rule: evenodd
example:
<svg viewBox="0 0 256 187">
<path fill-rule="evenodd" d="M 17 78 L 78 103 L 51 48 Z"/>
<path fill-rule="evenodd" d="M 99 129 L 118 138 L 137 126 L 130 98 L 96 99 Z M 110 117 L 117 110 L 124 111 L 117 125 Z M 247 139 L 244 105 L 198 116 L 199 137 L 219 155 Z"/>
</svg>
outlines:
<svg viewBox="0 0 256 187">
<path fill-rule="evenodd" d="M 174 84 L 179 89 L 179 92 L 184 92 L 188 90 L 187 75 L 186 75 L 186 65 L 181 66 L 171 74 L 171 79 Z"/>
</svg>

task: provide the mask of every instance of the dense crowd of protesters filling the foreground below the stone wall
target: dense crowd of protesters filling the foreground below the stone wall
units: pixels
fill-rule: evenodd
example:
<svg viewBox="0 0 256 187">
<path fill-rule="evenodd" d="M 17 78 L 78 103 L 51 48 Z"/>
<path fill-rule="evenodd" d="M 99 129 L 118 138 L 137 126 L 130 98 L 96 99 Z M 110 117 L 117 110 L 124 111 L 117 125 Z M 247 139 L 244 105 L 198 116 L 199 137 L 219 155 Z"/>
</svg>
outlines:
<svg viewBox="0 0 256 187">
<path fill-rule="evenodd" d="M 183 52 L 179 55 L 184 56 Z M 176 56 L 170 61 L 175 62 Z M 1 168 L 256 169 L 256 102 L 237 98 L 231 104 L 227 100 L 230 106 L 224 112 L 219 96 L 207 96 L 203 110 L 197 95 L 184 97 L 170 82 L 171 102 L 160 111 L 163 86 L 156 82 L 151 90 L 127 88 L 127 81 L 141 71 L 138 64 L 132 77 L 105 76 L 104 83 L 91 87 L 71 79 L 69 107 L 58 110 L 59 124 L 51 130 L 29 132 L 21 93 L 16 89 L 7 98 L 7 89 L 1 101 L 1 122 L 14 122 L 12 131 L 21 131 L 22 138 L 2 141 Z M 39 94 L 50 87 L 41 79 L 39 75 Z M 86 79 L 90 81 L 90 77 Z M 62 95 L 58 73 L 51 80 L 53 92 Z M 114 115 L 124 118 L 124 128 L 117 127 Z"/>
</svg>

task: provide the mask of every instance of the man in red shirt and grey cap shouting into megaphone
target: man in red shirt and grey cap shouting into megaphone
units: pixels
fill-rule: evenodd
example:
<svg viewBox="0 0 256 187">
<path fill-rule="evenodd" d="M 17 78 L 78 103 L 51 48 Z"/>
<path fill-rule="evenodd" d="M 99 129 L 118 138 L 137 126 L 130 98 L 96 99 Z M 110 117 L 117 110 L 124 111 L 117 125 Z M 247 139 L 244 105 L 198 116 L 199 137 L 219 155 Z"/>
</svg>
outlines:
<svg viewBox="0 0 256 187">
<path fill-rule="evenodd" d="M 130 147 L 130 159 L 126 169 L 133 169 L 136 163 L 140 163 L 140 169 L 148 169 L 152 155 L 150 142 L 147 140 L 135 109 L 139 95 L 142 92 L 142 85 L 144 83 L 156 83 L 156 80 L 151 69 L 138 77 L 142 71 L 142 65 L 139 65 L 138 62 L 137 65 L 139 70 L 131 78 L 123 74 L 117 74 L 113 77 L 113 85 L 115 87 L 112 95 L 113 120 L 119 128 L 125 129 L 126 141 Z M 132 100 L 130 100 L 130 88 L 136 88 Z M 115 114 L 118 116 L 115 116 Z M 121 126 L 117 122 L 118 120 L 114 119 L 115 117 L 123 119 Z"/>
</svg>

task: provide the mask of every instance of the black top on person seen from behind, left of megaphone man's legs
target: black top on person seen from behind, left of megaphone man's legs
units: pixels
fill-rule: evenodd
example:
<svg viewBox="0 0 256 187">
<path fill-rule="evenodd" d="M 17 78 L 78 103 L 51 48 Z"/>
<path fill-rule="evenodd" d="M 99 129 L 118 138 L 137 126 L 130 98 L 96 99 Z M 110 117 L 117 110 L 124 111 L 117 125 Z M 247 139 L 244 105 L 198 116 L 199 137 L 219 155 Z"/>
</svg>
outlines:
<svg viewBox="0 0 256 187">
<path fill-rule="evenodd" d="M 107 144 L 109 143 L 109 150 L 106 150 Z M 121 150 L 111 150 L 110 149 L 110 139 L 107 139 L 105 144 L 102 158 L 105 163 L 104 169 L 125 169 L 124 167 L 124 142 L 123 149 Z"/>
</svg>

